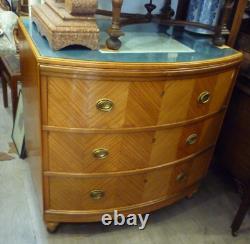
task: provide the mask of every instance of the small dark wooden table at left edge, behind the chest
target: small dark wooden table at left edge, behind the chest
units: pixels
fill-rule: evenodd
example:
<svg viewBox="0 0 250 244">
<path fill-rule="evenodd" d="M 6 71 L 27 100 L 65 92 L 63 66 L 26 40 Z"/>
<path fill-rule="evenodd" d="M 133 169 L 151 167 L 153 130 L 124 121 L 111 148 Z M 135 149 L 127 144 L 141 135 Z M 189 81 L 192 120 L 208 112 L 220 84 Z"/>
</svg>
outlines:
<svg viewBox="0 0 250 244">
<path fill-rule="evenodd" d="M 8 107 L 7 85 L 9 85 L 11 90 L 13 118 L 15 118 L 18 101 L 17 82 L 21 79 L 20 61 L 18 55 L 0 57 L 0 76 L 3 87 L 4 107 Z"/>
</svg>

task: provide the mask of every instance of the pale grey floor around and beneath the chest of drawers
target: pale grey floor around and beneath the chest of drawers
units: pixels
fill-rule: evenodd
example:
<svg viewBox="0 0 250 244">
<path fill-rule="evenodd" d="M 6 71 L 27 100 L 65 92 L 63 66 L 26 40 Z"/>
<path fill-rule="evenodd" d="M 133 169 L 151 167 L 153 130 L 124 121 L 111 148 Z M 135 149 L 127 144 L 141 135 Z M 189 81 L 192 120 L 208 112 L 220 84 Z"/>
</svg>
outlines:
<svg viewBox="0 0 250 244">
<path fill-rule="evenodd" d="M 0 88 L 0 152 L 8 152 L 12 116 L 4 109 Z M 137 227 L 105 227 L 94 224 L 64 224 L 48 234 L 38 211 L 28 164 L 15 158 L 0 161 L 0 244 L 249 244 L 250 215 L 238 237 L 230 224 L 239 205 L 233 186 L 220 174 L 209 172 L 200 191 L 149 217 L 145 230 Z"/>
</svg>

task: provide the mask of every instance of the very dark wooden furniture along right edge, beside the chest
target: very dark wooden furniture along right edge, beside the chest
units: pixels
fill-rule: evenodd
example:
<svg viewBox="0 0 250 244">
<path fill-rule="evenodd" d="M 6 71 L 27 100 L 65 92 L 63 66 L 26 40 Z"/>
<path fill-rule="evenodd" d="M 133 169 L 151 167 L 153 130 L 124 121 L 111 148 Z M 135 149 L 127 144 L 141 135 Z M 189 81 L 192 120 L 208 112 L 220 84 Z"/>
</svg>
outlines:
<svg viewBox="0 0 250 244">
<path fill-rule="evenodd" d="M 250 19 L 243 21 L 237 48 L 244 60 L 216 150 L 219 164 L 236 179 L 242 202 L 232 223 L 235 236 L 250 208 Z"/>
</svg>

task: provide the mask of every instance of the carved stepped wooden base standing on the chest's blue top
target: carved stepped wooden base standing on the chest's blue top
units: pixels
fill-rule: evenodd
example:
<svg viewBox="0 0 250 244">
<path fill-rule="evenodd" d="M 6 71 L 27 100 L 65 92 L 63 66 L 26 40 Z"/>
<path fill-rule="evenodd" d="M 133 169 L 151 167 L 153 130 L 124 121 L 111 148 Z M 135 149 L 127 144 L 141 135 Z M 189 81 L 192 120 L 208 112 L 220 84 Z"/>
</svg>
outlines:
<svg viewBox="0 0 250 244">
<path fill-rule="evenodd" d="M 32 20 L 54 50 L 69 45 L 95 50 L 99 48 L 96 7 L 97 0 L 46 0 L 32 6 Z"/>
</svg>

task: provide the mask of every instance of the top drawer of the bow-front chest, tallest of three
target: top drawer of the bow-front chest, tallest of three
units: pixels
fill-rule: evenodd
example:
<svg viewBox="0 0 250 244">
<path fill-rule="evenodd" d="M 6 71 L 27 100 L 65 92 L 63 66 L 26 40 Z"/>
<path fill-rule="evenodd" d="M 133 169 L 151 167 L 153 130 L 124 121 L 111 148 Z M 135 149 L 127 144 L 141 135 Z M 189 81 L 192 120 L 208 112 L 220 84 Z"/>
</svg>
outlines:
<svg viewBox="0 0 250 244">
<path fill-rule="evenodd" d="M 167 81 L 88 81 L 42 77 L 43 124 L 129 128 L 171 124 L 217 112 L 234 70 Z"/>
</svg>

